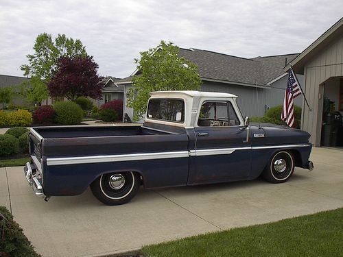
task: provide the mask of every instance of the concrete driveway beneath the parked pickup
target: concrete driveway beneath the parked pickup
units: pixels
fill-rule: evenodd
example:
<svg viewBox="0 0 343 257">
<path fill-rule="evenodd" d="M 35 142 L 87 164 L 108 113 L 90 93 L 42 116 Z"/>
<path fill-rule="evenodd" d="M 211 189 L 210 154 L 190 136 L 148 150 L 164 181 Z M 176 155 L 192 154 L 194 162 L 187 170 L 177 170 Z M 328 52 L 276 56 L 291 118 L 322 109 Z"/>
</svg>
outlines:
<svg viewBox="0 0 343 257">
<path fill-rule="evenodd" d="M 99 256 L 206 232 L 278 221 L 343 207 L 343 151 L 314 148 L 311 173 L 285 184 L 263 180 L 143 191 L 123 206 L 104 206 L 91 191 L 43 201 L 22 167 L 0 169 L 0 205 L 12 210 L 43 256 Z"/>
</svg>

